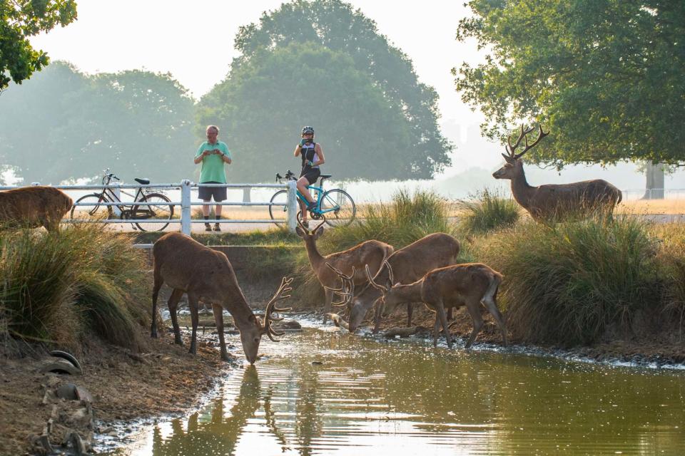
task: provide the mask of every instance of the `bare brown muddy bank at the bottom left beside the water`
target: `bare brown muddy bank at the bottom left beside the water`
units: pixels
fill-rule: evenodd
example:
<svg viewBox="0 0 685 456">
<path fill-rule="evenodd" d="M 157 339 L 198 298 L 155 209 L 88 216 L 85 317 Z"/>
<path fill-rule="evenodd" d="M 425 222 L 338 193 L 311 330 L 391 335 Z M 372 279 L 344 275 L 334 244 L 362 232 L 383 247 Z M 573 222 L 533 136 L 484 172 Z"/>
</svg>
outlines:
<svg viewBox="0 0 685 456">
<path fill-rule="evenodd" d="M 143 332 L 141 330 L 141 332 Z M 149 338 L 149 334 L 142 334 Z M 229 343 L 237 341 L 229 338 Z M 239 342 L 237 342 L 239 343 Z M 108 430 L 108 423 L 136 418 L 183 413 L 208 393 L 232 366 L 219 361 L 212 341 L 200 341 L 198 355 L 187 347 L 173 345 L 167 332 L 151 340 L 144 353 L 130 353 L 98 341 L 88 341 L 79 356 L 82 375 L 39 372 L 47 356 L 36 351 L 21 359 L 0 358 L 0 455 L 40 454 L 38 437 L 51 415 L 54 419 L 49 440 L 59 450 L 70 432 L 84 439 L 88 432 Z M 229 351 L 231 347 L 229 346 Z M 74 383 L 92 396 L 94 428 L 89 420 L 74 423 L 66 416 L 78 408 L 78 401 L 64 399 L 44 403 L 46 390 Z M 54 412 L 54 405 L 59 412 Z M 53 416 L 53 418 L 55 418 Z"/>
</svg>

